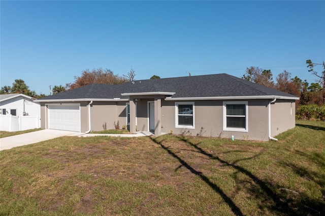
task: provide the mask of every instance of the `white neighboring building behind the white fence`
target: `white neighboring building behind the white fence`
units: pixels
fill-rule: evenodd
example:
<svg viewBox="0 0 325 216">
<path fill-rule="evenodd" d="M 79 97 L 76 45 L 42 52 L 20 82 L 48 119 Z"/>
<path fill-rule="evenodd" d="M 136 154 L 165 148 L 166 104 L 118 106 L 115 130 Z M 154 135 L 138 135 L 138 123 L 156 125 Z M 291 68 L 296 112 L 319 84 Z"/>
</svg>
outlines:
<svg viewBox="0 0 325 216">
<path fill-rule="evenodd" d="M 41 106 L 35 98 L 24 94 L 0 94 L 1 115 L 41 116 Z"/>
</svg>

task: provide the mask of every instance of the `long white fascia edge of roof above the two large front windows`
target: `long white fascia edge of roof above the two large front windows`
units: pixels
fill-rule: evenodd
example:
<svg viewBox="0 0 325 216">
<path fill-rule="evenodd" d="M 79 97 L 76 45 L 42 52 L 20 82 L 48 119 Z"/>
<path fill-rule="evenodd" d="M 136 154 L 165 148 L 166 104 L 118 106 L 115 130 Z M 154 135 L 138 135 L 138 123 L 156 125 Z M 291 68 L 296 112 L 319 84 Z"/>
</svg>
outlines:
<svg viewBox="0 0 325 216">
<path fill-rule="evenodd" d="M 248 100 L 248 99 L 286 99 L 299 100 L 299 97 L 288 96 L 232 96 L 232 97 L 166 97 L 165 100 Z"/>
</svg>

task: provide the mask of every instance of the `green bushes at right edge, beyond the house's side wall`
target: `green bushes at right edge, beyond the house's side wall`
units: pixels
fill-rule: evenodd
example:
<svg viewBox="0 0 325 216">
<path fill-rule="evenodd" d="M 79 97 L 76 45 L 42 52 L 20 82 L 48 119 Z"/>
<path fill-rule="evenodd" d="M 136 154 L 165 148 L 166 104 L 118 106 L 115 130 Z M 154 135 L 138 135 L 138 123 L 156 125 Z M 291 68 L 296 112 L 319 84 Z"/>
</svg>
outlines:
<svg viewBox="0 0 325 216">
<path fill-rule="evenodd" d="M 325 120 L 325 105 L 300 105 L 296 112 L 296 118 L 301 120 Z"/>
</svg>

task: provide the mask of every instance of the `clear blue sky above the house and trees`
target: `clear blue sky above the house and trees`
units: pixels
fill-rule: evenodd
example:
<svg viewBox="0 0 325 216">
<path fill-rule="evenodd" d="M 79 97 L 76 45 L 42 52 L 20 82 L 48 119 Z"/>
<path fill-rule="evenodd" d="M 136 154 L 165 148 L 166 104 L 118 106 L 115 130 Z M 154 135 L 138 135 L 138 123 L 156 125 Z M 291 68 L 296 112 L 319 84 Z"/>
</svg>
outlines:
<svg viewBox="0 0 325 216">
<path fill-rule="evenodd" d="M 0 85 L 37 94 L 108 68 L 136 80 L 283 70 L 325 60 L 324 1 L 1 1 Z M 320 66 L 315 68 L 320 71 Z"/>
</svg>

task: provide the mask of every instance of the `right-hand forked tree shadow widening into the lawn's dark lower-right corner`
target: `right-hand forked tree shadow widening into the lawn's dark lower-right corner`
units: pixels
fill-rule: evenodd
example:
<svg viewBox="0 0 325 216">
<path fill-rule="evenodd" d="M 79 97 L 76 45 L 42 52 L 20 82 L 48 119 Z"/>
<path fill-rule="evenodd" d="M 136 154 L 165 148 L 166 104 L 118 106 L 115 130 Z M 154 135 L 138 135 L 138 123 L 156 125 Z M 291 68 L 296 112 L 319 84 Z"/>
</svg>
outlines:
<svg viewBox="0 0 325 216">
<path fill-rule="evenodd" d="M 293 191 L 286 191 L 285 188 L 283 188 L 279 184 L 274 184 L 272 183 L 272 179 L 270 181 L 262 181 L 259 179 L 257 176 L 253 175 L 249 170 L 245 169 L 244 167 L 241 167 L 239 165 L 236 165 L 237 162 L 243 161 L 243 160 L 249 160 L 258 157 L 259 155 L 262 154 L 262 152 L 259 152 L 258 154 L 250 157 L 250 158 L 244 158 L 240 160 L 236 160 L 233 163 L 229 163 L 218 156 L 214 156 L 210 153 L 207 153 L 204 151 L 202 148 L 198 146 L 198 144 L 194 144 L 190 142 L 186 137 L 179 137 L 179 139 L 183 142 L 186 142 L 187 145 L 197 149 L 201 154 L 208 156 L 212 160 L 217 160 L 220 163 L 230 166 L 237 170 L 237 173 L 243 173 L 246 176 L 248 176 L 254 183 L 255 185 L 250 184 L 249 181 L 241 181 L 239 179 L 236 179 L 236 176 L 234 177 L 235 181 L 237 184 L 249 184 L 250 188 L 247 188 L 247 190 L 250 190 L 251 193 L 255 194 L 256 199 L 261 200 L 263 202 L 267 202 L 267 200 L 271 199 L 273 203 L 275 203 L 274 207 L 271 207 L 270 210 L 273 210 L 274 213 L 279 212 L 279 213 L 284 213 L 286 215 L 325 215 L 325 175 L 317 172 L 310 171 L 304 167 L 298 167 L 295 166 L 294 164 L 290 163 L 288 166 L 291 166 L 291 168 L 301 176 L 309 176 L 312 181 L 314 181 L 320 188 L 321 192 L 323 194 L 322 199 L 312 199 L 308 198 L 306 194 L 300 194 L 298 198 L 294 198 L 291 196 L 291 194 L 288 194 Z M 318 154 L 318 153 L 313 153 L 312 155 L 308 155 L 304 152 L 298 151 L 297 154 L 303 155 L 309 160 L 313 161 L 316 163 L 321 169 L 325 169 L 325 158 Z M 279 193 L 279 190 L 284 190 L 284 192 Z M 262 208 L 267 207 L 267 204 L 262 204 Z M 277 214 L 277 213 L 276 213 Z"/>
</svg>

